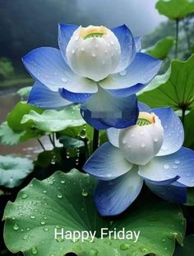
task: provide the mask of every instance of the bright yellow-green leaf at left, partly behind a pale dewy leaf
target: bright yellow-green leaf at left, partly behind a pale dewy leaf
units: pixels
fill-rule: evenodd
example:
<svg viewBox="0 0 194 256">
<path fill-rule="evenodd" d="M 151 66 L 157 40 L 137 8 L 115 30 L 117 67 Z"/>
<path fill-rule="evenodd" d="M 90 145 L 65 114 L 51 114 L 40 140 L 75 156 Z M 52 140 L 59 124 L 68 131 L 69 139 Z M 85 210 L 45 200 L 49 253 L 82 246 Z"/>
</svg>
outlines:
<svg viewBox="0 0 194 256">
<path fill-rule="evenodd" d="M 37 113 L 42 113 L 44 110 L 38 107 L 31 106 L 26 102 L 18 102 L 12 111 L 7 115 L 7 123 L 12 130 L 22 131 L 26 129 L 33 128 L 33 122 L 27 124 L 21 124 L 21 119 L 24 115 L 28 114 L 30 111 L 36 111 Z"/>
</svg>

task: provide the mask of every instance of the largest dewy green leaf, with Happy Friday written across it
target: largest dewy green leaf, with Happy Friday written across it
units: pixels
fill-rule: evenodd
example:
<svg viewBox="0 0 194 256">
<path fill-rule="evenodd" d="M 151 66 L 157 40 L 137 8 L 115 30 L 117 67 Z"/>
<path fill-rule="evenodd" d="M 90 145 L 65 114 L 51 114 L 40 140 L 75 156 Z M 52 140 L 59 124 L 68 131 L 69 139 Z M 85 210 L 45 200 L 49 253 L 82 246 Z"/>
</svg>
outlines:
<svg viewBox="0 0 194 256">
<path fill-rule="evenodd" d="M 185 220 L 178 206 L 145 194 L 130 209 L 116 219 L 98 215 L 93 202 L 95 180 L 87 174 L 72 170 L 54 173 L 39 182 L 33 180 L 19 192 L 14 203 L 8 202 L 4 212 L 4 238 L 13 253 L 22 251 L 25 256 L 64 256 L 74 252 L 80 256 L 171 256 L 175 240 L 182 244 Z M 90 238 L 73 241 L 54 239 L 58 232 L 96 231 Z M 100 239 L 101 229 L 141 231 L 139 239 Z M 133 233 L 134 234 L 134 233 Z"/>
</svg>

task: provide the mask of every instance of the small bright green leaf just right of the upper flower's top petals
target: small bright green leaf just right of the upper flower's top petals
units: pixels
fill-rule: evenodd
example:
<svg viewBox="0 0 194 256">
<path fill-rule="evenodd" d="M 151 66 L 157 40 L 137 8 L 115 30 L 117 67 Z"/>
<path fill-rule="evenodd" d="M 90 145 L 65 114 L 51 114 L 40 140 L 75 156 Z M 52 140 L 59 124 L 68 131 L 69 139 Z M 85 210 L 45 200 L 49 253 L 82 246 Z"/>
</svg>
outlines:
<svg viewBox="0 0 194 256">
<path fill-rule="evenodd" d="M 155 45 L 144 50 L 148 55 L 151 55 L 157 59 L 166 59 L 169 55 L 170 50 L 172 50 L 174 44 L 173 37 L 166 37 L 159 40 Z"/>
</svg>

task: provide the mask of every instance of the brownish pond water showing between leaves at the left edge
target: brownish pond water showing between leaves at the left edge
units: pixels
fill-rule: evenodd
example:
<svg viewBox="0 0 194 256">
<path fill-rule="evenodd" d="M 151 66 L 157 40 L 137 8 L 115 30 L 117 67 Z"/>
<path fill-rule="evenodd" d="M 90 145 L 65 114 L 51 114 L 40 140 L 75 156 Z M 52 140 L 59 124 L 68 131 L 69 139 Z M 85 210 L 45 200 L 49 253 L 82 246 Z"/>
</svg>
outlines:
<svg viewBox="0 0 194 256">
<path fill-rule="evenodd" d="M 28 84 L 29 86 L 29 84 Z M 23 86 L 25 87 L 25 86 Z M 19 102 L 21 98 L 16 94 L 20 87 L 14 88 L 0 88 L 0 123 L 6 120 L 7 113 L 12 111 L 12 108 Z M 46 149 L 52 149 L 48 138 L 41 138 Z M 19 145 L 0 145 L 0 154 L 21 154 L 30 159 L 35 159 L 36 155 L 41 152 L 42 149 L 39 146 L 37 140 L 29 140 Z"/>
</svg>

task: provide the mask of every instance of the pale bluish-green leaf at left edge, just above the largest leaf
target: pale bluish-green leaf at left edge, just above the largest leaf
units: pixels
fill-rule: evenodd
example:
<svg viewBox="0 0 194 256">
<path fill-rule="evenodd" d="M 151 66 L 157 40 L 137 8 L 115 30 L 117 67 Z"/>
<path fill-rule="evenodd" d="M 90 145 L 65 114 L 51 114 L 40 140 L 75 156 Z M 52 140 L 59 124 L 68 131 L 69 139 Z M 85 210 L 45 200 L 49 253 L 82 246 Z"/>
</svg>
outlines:
<svg viewBox="0 0 194 256">
<path fill-rule="evenodd" d="M 17 187 L 33 171 L 30 159 L 0 155 L 0 186 Z"/>
</svg>

